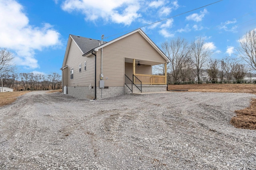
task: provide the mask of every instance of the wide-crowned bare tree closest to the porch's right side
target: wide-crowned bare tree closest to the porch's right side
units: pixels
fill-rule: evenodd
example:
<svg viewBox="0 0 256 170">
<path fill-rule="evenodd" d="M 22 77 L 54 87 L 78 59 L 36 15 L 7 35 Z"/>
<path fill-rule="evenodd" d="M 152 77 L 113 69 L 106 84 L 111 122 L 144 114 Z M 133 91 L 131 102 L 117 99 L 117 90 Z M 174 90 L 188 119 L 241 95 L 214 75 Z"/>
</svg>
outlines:
<svg viewBox="0 0 256 170">
<path fill-rule="evenodd" d="M 162 50 L 170 59 L 170 73 L 174 81 L 178 81 L 182 74 L 182 70 L 190 61 L 190 45 L 185 39 L 173 39 L 170 43 L 162 43 Z"/>
</svg>

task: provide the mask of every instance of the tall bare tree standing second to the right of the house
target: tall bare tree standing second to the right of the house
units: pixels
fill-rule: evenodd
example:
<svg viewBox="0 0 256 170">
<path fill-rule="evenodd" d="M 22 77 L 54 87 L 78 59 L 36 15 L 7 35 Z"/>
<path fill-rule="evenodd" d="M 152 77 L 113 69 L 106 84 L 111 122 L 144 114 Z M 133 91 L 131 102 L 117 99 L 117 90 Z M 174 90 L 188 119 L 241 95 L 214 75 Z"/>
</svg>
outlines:
<svg viewBox="0 0 256 170">
<path fill-rule="evenodd" d="M 196 68 L 197 80 L 200 81 L 200 70 L 205 63 L 210 59 L 212 51 L 207 47 L 202 37 L 198 38 L 191 45 L 191 65 Z"/>
</svg>

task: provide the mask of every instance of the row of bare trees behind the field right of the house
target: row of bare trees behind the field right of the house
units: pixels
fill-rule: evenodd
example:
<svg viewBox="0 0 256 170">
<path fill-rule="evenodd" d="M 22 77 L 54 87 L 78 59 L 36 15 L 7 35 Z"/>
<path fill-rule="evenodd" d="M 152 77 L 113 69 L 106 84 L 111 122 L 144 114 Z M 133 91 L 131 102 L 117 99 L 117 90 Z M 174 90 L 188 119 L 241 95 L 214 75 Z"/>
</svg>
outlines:
<svg viewBox="0 0 256 170">
<path fill-rule="evenodd" d="M 208 73 L 209 80 L 241 80 L 246 73 L 256 71 L 256 30 L 246 33 L 240 40 L 236 57 L 226 56 L 212 59 L 213 52 L 205 39 L 199 37 L 192 43 L 184 38 L 172 39 L 162 43 L 162 51 L 170 59 L 167 65 L 168 81 L 200 81 L 202 70 Z M 154 68 L 164 74 L 164 65 Z"/>
</svg>

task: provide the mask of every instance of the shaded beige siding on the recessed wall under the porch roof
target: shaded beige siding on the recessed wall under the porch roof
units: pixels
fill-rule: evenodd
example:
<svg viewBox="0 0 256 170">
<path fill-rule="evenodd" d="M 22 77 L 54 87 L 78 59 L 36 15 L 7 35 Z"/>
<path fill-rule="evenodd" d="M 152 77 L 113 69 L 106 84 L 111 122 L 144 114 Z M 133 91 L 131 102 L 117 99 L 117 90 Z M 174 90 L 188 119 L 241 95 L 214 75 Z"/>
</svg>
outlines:
<svg viewBox="0 0 256 170">
<path fill-rule="evenodd" d="M 135 74 L 148 74 L 151 75 L 152 66 L 150 65 L 140 65 L 135 66 Z M 132 63 L 125 63 L 125 74 L 132 80 Z"/>
</svg>

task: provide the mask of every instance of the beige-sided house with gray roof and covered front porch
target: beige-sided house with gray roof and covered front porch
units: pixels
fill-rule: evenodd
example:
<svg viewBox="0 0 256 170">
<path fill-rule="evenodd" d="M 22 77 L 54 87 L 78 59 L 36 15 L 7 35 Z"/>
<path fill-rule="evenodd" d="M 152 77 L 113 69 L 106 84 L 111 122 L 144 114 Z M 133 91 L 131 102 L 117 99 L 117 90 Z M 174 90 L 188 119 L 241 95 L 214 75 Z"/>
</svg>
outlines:
<svg viewBox="0 0 256 170">
<path fill-rule="evenodd" d="M 109 42 L 69 35 L 62 87 L 67 94 L 87 99 L 166 91 L 166 74 L 152 75 L 152 66 L 166 67 L 168 62 L 141 29 Z"/>
</svg>

